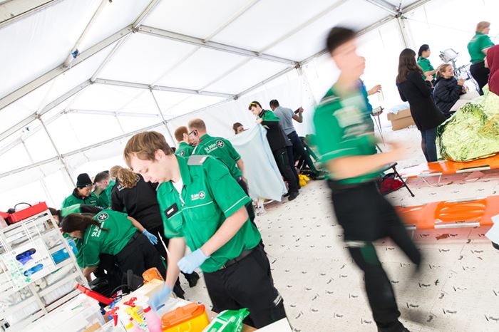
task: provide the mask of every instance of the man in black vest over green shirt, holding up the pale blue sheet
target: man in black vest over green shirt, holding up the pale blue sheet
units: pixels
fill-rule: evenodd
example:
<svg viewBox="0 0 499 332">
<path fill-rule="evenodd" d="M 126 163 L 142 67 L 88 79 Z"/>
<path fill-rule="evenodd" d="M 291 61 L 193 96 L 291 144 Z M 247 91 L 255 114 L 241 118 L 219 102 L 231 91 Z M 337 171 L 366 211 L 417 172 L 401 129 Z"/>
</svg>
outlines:
<svg viewBox="0 0 499 332">
<path fill-rule="evenodd" d="M 272 150 L 279 171 L 288 183 L 288 200 L 292 201 L 299 195 L 299 182 L 297 176 L 295 177 L 293 173 L 291 165 L 289 165 L 287 152 L 287 147 L 292 146 L 292 144 L 284 134 L 281 125 L 279 125 L 279 118 L 272 110 L 264 110 L 257 101 L 249 103 L 248 110 L 251 110 L 253 115 L 257 116 L 257 123 L 267 128 L 267 140 L 269 141 L 270 150 Z"/>
</svg>

